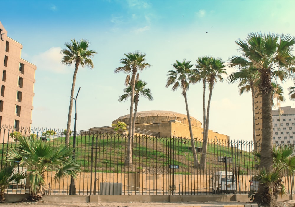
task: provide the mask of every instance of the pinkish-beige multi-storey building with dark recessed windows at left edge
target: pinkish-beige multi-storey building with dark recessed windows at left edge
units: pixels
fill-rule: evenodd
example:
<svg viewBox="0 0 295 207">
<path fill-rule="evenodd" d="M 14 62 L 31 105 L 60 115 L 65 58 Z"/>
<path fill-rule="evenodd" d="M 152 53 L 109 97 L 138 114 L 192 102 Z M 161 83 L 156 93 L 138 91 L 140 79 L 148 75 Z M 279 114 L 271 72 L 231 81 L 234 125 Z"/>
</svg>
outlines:
<svg viewBox="0 0 295 207">
<path fill-rule="evenodd" d="M 32 124 L 36 66 L 21 58 L 22 45 L 7 37 L 1 22 L 0 32 L 0 126 L 22 131 Z M 0 142 L 10 141 L 0 137 Z"/>
</svg>

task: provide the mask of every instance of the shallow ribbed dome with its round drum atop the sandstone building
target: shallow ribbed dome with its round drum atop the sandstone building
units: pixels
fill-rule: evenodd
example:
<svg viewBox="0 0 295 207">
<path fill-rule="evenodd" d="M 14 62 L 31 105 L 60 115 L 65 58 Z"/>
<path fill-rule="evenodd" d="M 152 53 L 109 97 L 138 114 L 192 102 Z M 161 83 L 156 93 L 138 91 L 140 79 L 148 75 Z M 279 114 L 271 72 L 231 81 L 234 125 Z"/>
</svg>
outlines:
<svg viewBox="0 0 295 207">
<path fill-rule="evenodd" d="M 129 124 L 129 114 L 120 116 L 118 119 L 114 120 L 112 123 L 117 123 L 118 121 L 125 122 Z M 162 110 L 152 110 L 152 111 L 140 111 L 136 113 L 136 124 L 159 124 L 167 121 L 177 121 L 183 124 L 188 124 L 187 116 L 185 114 L 180 114 L 173 111 L 162 111 Z M 201 122 L 191 116 L 191 125 L 196 127 L 201 127 Z"/>
</svg>

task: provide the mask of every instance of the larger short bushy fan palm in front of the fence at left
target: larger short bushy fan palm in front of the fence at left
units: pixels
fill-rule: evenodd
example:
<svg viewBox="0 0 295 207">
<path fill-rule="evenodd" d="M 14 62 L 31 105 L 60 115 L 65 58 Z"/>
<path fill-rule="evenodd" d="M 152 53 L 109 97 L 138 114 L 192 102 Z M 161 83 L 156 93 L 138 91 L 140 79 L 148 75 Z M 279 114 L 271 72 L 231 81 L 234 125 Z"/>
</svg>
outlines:
<svg viewBox="0 0 295 207">
<path fill-rule="evenodd" d="M 71 159 L 72 154 L 72 150 L 65 144 L 53 147 L 50 142 L 20 137 L 19 145 L 9 149 L 7 162 L 19 162 L 20 165 L 32 169 L 29 174 L 29 194 L 32 200 L 38 200 L 47 188 L 44 181 L 46 171 L 56 171 L 54 179 L 57 182 L 68 175 L 76 178 L 80 165 Z"/>
</svg>

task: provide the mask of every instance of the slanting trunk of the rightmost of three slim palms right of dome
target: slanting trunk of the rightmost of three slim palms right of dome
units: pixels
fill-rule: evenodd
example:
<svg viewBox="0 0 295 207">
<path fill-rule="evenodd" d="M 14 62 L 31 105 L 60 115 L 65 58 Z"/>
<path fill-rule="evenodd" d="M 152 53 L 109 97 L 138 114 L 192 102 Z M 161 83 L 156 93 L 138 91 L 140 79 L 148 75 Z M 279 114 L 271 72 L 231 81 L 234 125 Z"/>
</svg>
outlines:
<svg viewBox="0 0 295 207">
<path fill-rule="evenodd" d="M 203 148 L 202 148 L 202 157 L 201 157 L 201 168 L 203 170 L 206 169 L 207 166 L 207 146 L 208 146 L 208 131 L 209 131 L 209 114 L 210 114 L 210 103 L 213 92 L 213 83 L 210 84 L 210 92 L 207 104 L 207 117 L 206 117 L 206 128 L 205 128 L 205 136 L 203 137 Z"/>
</svg>

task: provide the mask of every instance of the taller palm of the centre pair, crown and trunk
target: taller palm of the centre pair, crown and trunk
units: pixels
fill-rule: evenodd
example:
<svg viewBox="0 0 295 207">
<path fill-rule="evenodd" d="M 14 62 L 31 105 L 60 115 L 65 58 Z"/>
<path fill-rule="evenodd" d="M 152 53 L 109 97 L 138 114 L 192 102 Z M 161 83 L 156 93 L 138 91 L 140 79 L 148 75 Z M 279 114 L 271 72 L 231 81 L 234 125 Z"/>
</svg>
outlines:
<svg viewBox="0 0 295 207">
<path fill-rule="evenodd" d="M 132 134 L 132 114 L 133 114 L 133 104 L 134 104 L 134 88 L 135 88 L 135 82 L 136 82 L 136 74 L 138 71 L 142 71 L 145 68 L 149 68 L 150 64 L 145 63 L 145 55 L 141 53 L 140 51 L 135 51 L 134 53 L 129 52 L 127 54 L 124 53 L 126 58 L 122 58 L 120 60 L 120 63 L 124 64 L 122 67 L 118 67 L 115 69 L 114 73 L 127 73 L 126 79 L 125 79 L 125 85 L 128 86 L 128 83 L 130 82 L 130 76 L 131 73 L 131 102 L 130 102 L 130 114 L 129 114 L 129 129 L 128 129 L 128 148 L 127 148 L 127 154 L 125 158 L 125 165 L 128 165 L 130 168 L 132 168 L 132 145 L 133 145 L 133 134 Z"/>
</svg>

